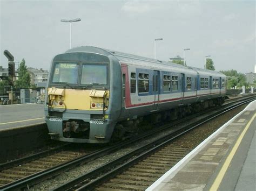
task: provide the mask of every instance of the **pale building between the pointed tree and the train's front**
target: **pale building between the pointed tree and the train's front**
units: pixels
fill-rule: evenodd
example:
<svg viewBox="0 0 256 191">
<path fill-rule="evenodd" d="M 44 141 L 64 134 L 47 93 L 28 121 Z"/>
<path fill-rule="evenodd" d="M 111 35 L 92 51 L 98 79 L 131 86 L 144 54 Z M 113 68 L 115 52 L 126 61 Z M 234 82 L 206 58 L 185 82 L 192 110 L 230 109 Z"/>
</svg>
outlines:
<svg viewBox="0 0 256 191">
<path fill-rule="evenodd" d="M 49 75 L 48 70 L 43 70 L 42 68 L 35 69 L 35 68 L 29 67 L 28 72 L 30 74 L 31 84 L 35 84 L 36 86 L 38 86 L 38 83 L 39 84 L 42 84 L 40 82 L 46 83 L 48 80 L 48 75 Z"/>
</svg>

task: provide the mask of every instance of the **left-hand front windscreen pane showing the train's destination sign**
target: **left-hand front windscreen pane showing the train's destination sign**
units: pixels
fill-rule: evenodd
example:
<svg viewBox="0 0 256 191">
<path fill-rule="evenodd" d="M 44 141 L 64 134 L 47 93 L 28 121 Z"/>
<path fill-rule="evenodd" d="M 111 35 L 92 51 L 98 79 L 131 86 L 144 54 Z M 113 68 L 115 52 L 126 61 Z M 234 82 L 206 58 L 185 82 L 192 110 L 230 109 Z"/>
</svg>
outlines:
<svg viewBox="0 0 256 191">
<path fill-rule="evenodd" d="M 53 70 L 52 82 L 77 84 L 78 71 L 78 63 L 56 63 Z"/>
</svg>

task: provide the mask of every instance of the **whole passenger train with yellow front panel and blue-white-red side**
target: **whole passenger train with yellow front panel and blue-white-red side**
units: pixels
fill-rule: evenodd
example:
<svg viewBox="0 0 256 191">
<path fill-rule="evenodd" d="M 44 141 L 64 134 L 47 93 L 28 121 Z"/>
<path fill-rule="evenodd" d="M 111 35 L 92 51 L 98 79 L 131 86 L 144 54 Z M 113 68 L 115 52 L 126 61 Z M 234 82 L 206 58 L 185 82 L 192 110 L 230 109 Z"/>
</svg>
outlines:
<svg viewBox="0 0 256 191">
<path fill-rule="evenodd" d="M 109 143 L 158 123 L 220 105 L 226 76 L 92 46 L 68 49 L 51 63 L 45 121 L 51 139 Z"/>
</svg>

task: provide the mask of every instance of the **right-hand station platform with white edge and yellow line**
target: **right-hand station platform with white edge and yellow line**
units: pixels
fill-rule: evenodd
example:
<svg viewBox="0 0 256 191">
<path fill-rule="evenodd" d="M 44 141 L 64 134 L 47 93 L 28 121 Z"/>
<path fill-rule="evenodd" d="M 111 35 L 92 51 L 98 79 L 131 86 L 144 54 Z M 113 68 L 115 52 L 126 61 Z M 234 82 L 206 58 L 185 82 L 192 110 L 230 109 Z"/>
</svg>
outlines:
<svg viewBox="0 0 256 191">
<path fill-rule="evenodd" d="M 146 190 L 256 190 L 256 101 Z"/>
</svg>

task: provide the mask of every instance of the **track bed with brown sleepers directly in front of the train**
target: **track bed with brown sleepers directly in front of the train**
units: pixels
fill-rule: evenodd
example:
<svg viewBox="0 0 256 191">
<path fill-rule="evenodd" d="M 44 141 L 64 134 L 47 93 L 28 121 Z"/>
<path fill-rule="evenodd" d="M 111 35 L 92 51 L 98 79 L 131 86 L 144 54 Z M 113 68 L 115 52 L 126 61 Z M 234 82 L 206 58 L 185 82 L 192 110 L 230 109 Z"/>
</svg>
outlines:
<svg viewBox="0 0 256 191">
<path fill-rule="evenodd" d="M 39 174 L 47 169 L 64 164 L 93 152 L 92 149 L 71 148 L 71 144 L 30 155 L 0 165 L 0 188 L 11 182 Z"/>
</svg>

